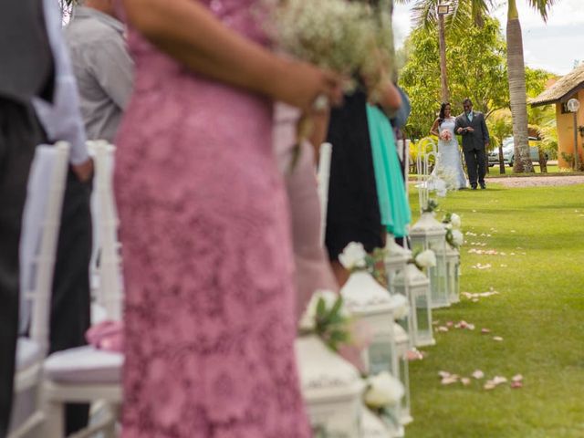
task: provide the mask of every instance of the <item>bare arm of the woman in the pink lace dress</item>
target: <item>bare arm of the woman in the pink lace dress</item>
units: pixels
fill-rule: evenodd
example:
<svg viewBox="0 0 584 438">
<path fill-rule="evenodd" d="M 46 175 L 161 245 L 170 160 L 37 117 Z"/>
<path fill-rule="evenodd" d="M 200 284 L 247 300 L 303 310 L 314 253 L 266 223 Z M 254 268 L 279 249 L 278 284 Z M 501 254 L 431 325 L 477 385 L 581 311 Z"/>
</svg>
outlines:
<svg viewBox="0 0 584 438">
<path fill-rule="evenodd" d="M 130 25 L 193 71 L 310 110 L 319 94 L 341 99 L 339 78 L 276 57 L 191 0 L 124 0 Z"/>
</svg>

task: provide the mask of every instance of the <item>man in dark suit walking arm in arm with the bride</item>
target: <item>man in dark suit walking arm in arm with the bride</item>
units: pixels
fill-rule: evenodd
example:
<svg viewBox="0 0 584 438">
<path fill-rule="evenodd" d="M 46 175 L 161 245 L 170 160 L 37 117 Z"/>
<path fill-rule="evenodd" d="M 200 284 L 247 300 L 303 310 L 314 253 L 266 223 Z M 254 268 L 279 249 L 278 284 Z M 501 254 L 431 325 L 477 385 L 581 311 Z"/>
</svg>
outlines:
<svg viewBox="0 0 584 438">
<path fill-rule="evenodd" d="M 486 148 L 489 146 L 489 131 L 482 112 L 473 111 L 471 99 L 463 101 L 464 113 L 456 118 L 454 130 L 463 136 L 464 161 L 468 180 L 476 190 L 477 179 L 481 189 L 486 189 Z"/>
</svg>

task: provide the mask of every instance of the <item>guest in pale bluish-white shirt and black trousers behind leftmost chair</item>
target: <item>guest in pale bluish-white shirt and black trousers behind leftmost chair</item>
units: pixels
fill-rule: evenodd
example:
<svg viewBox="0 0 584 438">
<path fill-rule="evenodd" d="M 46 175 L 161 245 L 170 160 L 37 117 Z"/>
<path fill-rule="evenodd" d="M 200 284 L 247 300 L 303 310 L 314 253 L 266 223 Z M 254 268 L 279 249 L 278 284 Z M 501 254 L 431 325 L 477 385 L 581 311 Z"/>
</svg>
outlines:
<svg viewBox="0 0 584 438">
<path fill-rule="evenodd" d="M 60 10 L 54 0 L 44 0 L 44 9 L 55 60 L 55 97 L 53 102 L 35 99 L 35 109 L 48 141 L 71 144 L 51 297 L 49 352 L 52 353 L 87 343 L 84 335 L 89 328 L 89 197 L 93 165 L 85 144 L 77 87 L 61 32 Z M 69 404 L 67 433 L 85 427 L 88 416 L 89 405 Z"/>
</svg>

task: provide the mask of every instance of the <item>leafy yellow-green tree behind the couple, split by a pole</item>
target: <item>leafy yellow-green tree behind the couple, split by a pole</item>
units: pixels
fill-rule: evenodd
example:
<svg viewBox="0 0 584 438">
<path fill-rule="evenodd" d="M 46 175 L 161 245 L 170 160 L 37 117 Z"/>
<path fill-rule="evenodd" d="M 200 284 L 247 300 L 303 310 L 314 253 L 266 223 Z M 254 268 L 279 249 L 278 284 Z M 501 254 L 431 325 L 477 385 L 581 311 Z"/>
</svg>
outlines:
<svg viewBox="0 0 584 438">
<path fill-rule="evenodd" d="M 485 112 L 508 106 L 506 45 L 499 22 L 485 18 L 482 27 L 469 23 L 464 32 L 446 32 L 446 62 L 453 114 L 462 112 L 462 100 L 470 98 L 474 109 Z M 405 44 L 409 60 L 400 73 L 400 85 L 412 100 L 412 115 L 406 130 L 421 138 L 440 110 L 440 65 L 438 37 L 432 28 L 414 30 Z"/>
</svg>

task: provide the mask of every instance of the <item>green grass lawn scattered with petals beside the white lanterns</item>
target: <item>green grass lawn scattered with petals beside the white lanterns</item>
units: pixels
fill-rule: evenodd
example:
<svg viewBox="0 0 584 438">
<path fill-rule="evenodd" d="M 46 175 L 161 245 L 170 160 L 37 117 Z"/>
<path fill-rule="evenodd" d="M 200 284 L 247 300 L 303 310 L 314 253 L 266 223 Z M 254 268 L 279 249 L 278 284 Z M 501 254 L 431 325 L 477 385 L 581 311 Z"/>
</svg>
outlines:
<svg viewBox="0 0 584 438">
<path fill-rule="evenodd" d="M 584 185 L 491 183 L 486 191 L 448 193 L 439 202 L 462 216 L 464 233 L 477 234 L 464 236 L 461 290 L 493 287 L 500 295 L 478 302 L 462 297 L 452 308 L 434 310 L 440 325 L 464 319 L 476 328 L 436 332 L 436 345 L 422 349 L 426 357 L 410 362 L 414 421 L 406 436 L 584 437 Z M 469 254 L 471 248 L 506 255 Z M 477 263 L 492 267 L 471 267 Z M 483 370 L 485 379 L 443 386 L 440 370 L 461 376 Z M 521 389 L 508 383 L 483 389 L 486 379 L 516 374 L 524 376 Z"/>
</svg>

